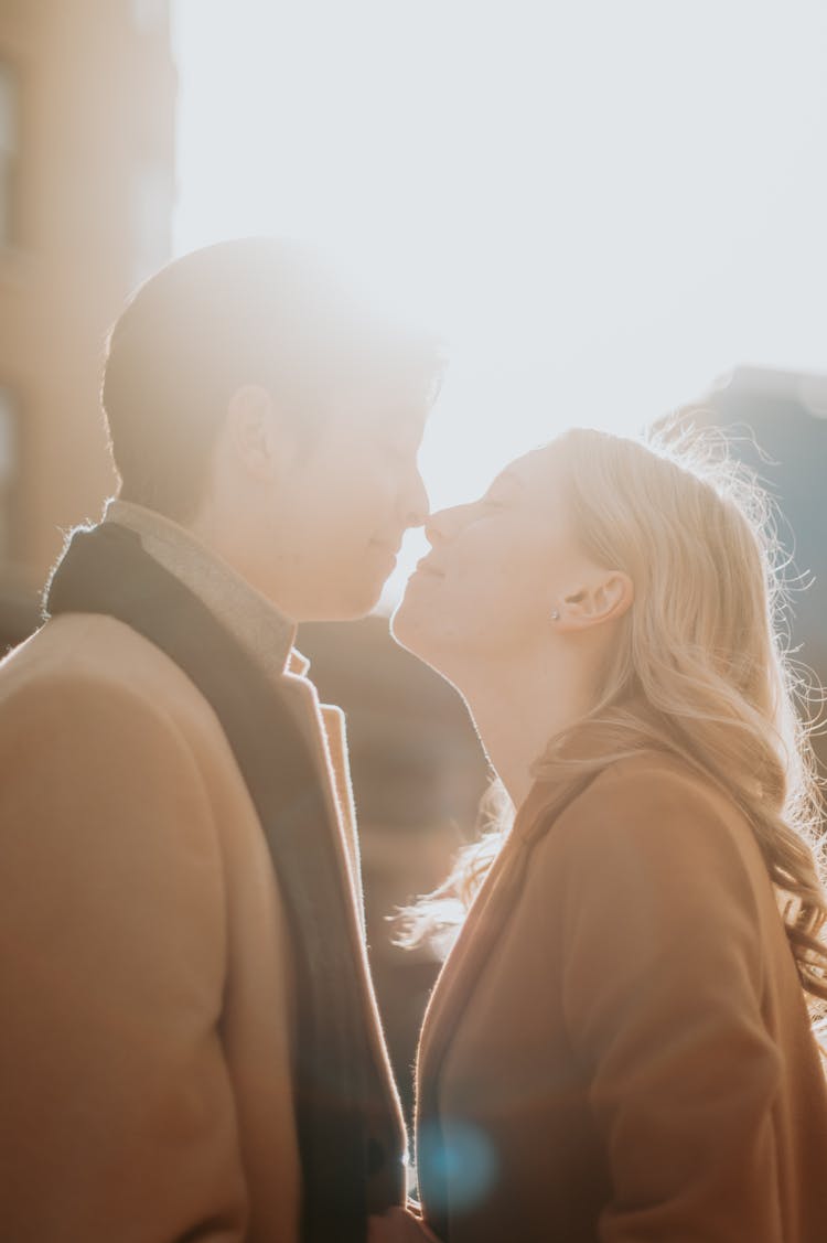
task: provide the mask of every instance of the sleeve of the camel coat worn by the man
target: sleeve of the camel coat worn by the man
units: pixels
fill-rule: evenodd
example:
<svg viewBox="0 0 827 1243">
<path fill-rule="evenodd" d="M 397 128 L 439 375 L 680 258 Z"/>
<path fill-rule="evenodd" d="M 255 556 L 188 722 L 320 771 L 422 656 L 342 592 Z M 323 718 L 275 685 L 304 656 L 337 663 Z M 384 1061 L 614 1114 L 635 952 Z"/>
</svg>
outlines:
<svg viewBox="0 0 827 1243">
<path fill-rule="evenodd" d="M 31 1243 L 236 1243 L 223 875 L 167 717 L 80 679 L 0 713 L 0 1204 Z"/>
</svg>

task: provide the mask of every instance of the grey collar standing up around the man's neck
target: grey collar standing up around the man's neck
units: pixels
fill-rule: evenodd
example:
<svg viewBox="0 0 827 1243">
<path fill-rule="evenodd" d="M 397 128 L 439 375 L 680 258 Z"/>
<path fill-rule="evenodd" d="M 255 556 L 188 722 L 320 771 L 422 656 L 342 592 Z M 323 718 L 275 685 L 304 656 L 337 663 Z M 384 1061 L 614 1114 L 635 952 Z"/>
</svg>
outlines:
<svg viewBox="0 0 827 1243">
<path fill-rule="evenodd" d="M 293 648 L 296 624 L 190 531 L 117 498 L 107 503 L 103 521 L 136 531 L 144 551 L 188 587 L 270 676 L 307 672 L 310 661 Z"/>
</svg>

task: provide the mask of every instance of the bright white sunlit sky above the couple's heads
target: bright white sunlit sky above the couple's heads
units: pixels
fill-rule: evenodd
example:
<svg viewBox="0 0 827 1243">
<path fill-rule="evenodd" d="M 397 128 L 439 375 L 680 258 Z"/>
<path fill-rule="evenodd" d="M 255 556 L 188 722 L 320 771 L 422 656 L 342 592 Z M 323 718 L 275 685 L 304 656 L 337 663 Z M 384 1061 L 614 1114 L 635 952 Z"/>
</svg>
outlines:
<svg viewBox="0 0 827 1243">
<path fill-rule="evenodd" d="M 827 372 L 825 0 L 174 2 L 177 251 L 320 239 L 444 331 L 434 506 L 737 363 Z"/>
</svg>

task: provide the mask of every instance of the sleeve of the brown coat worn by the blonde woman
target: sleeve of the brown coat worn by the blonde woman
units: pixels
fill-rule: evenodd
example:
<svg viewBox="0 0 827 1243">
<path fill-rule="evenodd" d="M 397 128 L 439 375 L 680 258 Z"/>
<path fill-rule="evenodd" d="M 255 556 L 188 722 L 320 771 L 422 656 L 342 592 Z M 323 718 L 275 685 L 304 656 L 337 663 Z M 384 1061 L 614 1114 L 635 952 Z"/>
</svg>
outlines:
<svg viewBox="0 0 827 1243">
<path fill-rule="evenodd" d="M 609 777 L 565 881 L 563 1004 L 613 1195 L 601 1243 L 781 1243 L 754 890 L 690 782 Z"/>
</svg>

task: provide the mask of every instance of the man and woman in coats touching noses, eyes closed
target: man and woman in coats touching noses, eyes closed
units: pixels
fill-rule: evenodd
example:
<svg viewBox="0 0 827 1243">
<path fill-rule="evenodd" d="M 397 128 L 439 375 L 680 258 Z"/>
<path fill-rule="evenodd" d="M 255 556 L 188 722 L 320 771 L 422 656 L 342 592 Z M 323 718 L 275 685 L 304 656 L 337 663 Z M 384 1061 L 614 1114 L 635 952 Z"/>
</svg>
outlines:
<svg viewBox="0 0 827 1243">
<path fill-rule="evenodd" d="M 820 822 L 759 493 L 698 443 L 573 430 L 429 517 L 441 365 L 267 240 L 114 326 L 119 496 L 0 671 L 9 1243 L 827 1238 Z M 410 917 L 463 925 L 418 1209 L 343 721 L 292 644 L 422 523 L 394 631 L 516 815 Z"/>
</svg>

